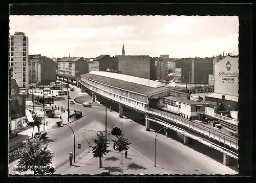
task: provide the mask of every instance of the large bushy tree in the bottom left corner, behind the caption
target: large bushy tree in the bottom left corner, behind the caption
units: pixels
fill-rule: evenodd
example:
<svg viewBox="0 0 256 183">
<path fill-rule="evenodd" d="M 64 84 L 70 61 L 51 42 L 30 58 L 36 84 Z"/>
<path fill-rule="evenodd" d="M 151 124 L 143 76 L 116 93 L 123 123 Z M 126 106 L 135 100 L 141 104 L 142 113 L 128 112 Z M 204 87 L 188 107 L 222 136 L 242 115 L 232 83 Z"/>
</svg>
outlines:
<svg viewBox="0 0 256 183">
<path fill-rule="evenodd" d="M 15 168 L 18 172 L 33 171 L 35 175 L 41 175 L 44 169 L 52 163 L 53 153 L 47 149 L 48 143 L 39 138 L 30 139 L 22 148 L 13 152 L 13 156 L 19 159 Z"/>
</svg>

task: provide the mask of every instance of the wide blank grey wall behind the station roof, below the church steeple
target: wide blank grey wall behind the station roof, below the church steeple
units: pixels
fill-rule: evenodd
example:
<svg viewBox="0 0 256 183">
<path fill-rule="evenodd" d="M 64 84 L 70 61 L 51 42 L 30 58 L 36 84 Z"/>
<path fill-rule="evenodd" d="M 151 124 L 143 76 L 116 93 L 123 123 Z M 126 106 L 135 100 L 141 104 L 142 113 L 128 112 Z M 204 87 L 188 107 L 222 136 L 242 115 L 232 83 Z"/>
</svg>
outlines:
<svg viewBox="0 0 256 183">
<path fill-rule="evenodd" d="M 132 55 L 132 56 L 117 56 L 118 57 L 118 70 L 122 74 L 140 77 L 148 79 L 149 77 L 154 77 L 151 72 L 153 67 L 151 67 L 151 57 L 144 55 Z M 154 64 L 154 63 L 153 63 Z M 155 80 L 153 78 L 153 80 Z"/>
</svg>

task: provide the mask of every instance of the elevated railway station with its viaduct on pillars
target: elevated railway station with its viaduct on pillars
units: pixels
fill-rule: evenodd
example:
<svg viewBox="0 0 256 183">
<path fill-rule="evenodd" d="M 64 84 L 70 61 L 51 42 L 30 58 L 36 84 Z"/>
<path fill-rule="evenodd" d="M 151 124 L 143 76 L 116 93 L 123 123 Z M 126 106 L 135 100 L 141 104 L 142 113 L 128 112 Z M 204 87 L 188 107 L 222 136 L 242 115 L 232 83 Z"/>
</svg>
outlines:
<svg viewBox="0 0 256 183">
<path fill-rule="evenodd" d="M 92 92 L 93 100 L 96 95 L 99 95 L 119 104 L 119 116 L 121 118 L 123 116 L 123 106 L 144 113 L 146 130 L 150 129 L 151 122 L 157 123 L 159 120 L 163 120 L 167 124 L 175 124 L 189 129 L 188 131 L 203 135 L 205 141 L 208 139 L 222 144 L 221 152 L 223 152 L 225 165 L 228 164 L 228 156 L 238 158 L 238 138 L 224 134 L 217 128 L 209 128 L 191 122 L 189 119 L 179 115 L 168 112 L 166 112 L 168 113 L 166 115 L 166 113 L 158 109 L 164 105 L 163 101 L 166 97 L 172 96 L 185 100 L 189 98 L 187 93 L 170 89 L 157 81 L 109 72 L 92 71 L 81 75 L 78 82 L 81 84 L 82 89 L 86 88 Z M 183 136 L 185 140 L 188 137 L 191 138 L 190 134 L 184 134 Z M 194 139 L 202 142 L 202 139 Z M 185 140 L 184 142 L 187 142 Z M 209 145 L 209 143 L 204 144 Z M 212 144 L 209 146 L 211 147 Z M 232 155 L 230 155 L 230 150 L 225 149 L 225 147 L 233 149 Z"/>
</svg>

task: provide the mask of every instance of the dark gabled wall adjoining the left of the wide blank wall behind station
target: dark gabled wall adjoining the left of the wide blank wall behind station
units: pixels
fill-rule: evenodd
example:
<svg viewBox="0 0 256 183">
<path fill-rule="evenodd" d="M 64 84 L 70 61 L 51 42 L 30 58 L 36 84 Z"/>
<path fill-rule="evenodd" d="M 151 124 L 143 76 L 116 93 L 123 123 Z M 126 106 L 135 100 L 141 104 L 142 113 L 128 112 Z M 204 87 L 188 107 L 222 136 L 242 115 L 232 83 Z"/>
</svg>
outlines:
<svg viewBox="0 0 256 183">
<path fill-rule="evenodd" d="M 106 55 L 99 59 L 99 71 L 106 71 L 107 68 L 110 70 L 118 70 L 118 58 Z"/>
</svg>

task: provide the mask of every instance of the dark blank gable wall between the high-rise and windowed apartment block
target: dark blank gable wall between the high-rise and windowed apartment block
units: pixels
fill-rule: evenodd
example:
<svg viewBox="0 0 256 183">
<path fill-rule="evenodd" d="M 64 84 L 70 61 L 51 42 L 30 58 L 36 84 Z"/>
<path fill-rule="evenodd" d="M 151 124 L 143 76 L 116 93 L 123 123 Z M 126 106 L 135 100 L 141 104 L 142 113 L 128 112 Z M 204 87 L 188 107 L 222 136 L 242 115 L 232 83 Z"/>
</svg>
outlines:
<svg viewBox="0 0 256 183">
<path fill-rule="evenodd" d="M 56 62 L 47 57 L 42 57 L 40 63 L 40 83 L 49 85 L 51 82 L 56 82 Z"/>
</svg>

